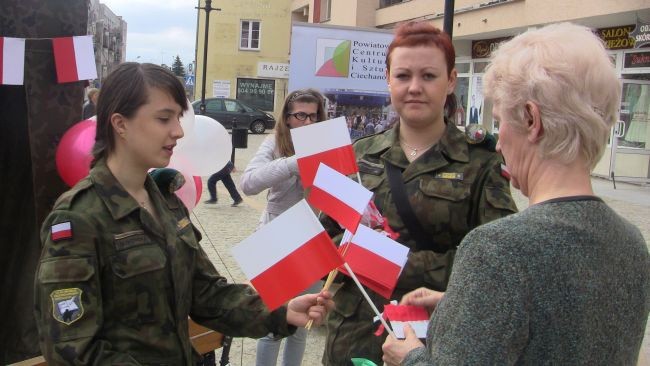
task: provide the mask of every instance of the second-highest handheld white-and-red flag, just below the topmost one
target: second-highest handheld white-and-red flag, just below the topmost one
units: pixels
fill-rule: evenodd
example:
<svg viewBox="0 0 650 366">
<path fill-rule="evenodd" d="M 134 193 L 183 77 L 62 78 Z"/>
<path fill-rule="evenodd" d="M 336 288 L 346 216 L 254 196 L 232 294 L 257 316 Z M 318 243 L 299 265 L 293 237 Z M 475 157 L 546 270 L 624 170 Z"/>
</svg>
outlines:
<svg viewBox="0 0 650 366">
<path fill-rule="evenodd" d="M 355 233 L 371 198 L 364 186 L 320 163 L 307 201 Z"/>
</svg>

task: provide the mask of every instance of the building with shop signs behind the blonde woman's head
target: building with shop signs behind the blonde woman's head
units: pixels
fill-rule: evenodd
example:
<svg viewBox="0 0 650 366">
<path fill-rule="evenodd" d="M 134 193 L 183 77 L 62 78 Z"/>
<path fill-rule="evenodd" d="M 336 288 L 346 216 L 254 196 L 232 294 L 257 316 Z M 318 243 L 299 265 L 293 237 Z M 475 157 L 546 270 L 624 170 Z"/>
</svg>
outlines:
<svg viewBox="0 0 650 366">
<path fill-rule="evenodd" d="M 444 5 L 444 0 L 293 0 L 291 14 L 293 21 L 337 26 L 390 29 L 423 20 L 442 29 Z M 649 183 L 650 42 L 636 44 L 630 32 L 644 29 L 642 38 L 650 37 L 650 0 L 456 0 L 452 34 L 460 107 L 455 122 L 481 123 L 498 133 L 481 91 L 491 51 L 528 29 L 565 21 L 597 32 L 622 80 L 619 122 L 594 174 Z"/>
</svg>

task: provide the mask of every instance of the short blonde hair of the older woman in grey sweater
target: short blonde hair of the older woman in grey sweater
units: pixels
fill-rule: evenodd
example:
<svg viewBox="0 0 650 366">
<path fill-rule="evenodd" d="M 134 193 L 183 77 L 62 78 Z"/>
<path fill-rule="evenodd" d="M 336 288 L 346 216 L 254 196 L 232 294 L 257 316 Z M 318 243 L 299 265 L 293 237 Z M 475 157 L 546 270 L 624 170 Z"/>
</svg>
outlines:
<svg viewBox="0 0 650 366">
<path fill-rule="evenodd" d="M 524 105 L 540 110 L 542 158 L 584 158 L 593 169 L 616 122 L 621 87 L 603 42 L 583 26 L 561 23 L 502 44 L 483 78 L 484 94 L 501 118 L 524 128 Z"/>
</svg>

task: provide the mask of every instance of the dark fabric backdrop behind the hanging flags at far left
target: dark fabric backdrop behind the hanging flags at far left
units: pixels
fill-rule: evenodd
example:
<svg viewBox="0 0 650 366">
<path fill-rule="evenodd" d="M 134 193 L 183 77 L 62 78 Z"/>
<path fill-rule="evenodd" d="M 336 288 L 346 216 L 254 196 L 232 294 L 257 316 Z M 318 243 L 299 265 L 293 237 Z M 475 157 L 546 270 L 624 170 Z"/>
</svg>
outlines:
<svg viewBox="0 0 650 366">
<path fill-rule="evenodd" d="M 0 0 L 0 36 L 28 38 L 25 83 L 0 85 L 0 364 L 40 354 L 33 318 L 40 225 L 68 187 L 58 141 L 81 119 L 85 82 L 57 84 L 47 39 L 87 33 L 88 0 Z"/>
</svg>

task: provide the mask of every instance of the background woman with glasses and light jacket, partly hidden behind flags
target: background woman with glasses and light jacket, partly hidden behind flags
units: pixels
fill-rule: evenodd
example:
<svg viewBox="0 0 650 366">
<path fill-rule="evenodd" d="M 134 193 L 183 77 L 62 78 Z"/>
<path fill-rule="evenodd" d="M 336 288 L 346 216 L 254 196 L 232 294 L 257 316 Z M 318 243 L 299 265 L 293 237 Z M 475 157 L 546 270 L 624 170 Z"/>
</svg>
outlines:
<svg viewBox="0 0 650 366">
<path fill-rule="evenodd" d="M 324 97 L 314 89 L 296 90 L 284 101 L 275 134 L 268 136 L 248 163 L 241 177 L 241 189 L 246 195 L 268 189 L 267 205 L 260 217 L 260 226 L 303 199 L 304 192 L 298 173 L 290 130 L 325 120 Z M 320 283 L 306 292 L 318 292 Z M 257 366 L 276 365 L 282 340 L 273 335 L 257 341 Z M 307 330 L 298 329 L 285 340 L 284 366 L 300 366 L 307 342 Z"/>
</svg>

